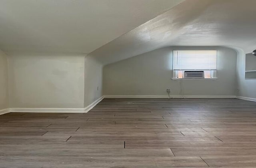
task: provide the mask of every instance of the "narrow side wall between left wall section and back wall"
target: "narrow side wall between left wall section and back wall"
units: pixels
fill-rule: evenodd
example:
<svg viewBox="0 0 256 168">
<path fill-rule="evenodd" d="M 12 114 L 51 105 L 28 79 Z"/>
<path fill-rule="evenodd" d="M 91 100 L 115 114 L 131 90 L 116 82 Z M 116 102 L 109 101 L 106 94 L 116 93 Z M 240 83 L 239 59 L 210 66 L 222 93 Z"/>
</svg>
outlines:
<svg viewBox="0 0 256 168">
<path fill-rule="evenodd" d="M 91 56 L 86 56 L 84 67 L 84 107 L 86 107 L 103 95 L 103 65 Z"/>
</svg>

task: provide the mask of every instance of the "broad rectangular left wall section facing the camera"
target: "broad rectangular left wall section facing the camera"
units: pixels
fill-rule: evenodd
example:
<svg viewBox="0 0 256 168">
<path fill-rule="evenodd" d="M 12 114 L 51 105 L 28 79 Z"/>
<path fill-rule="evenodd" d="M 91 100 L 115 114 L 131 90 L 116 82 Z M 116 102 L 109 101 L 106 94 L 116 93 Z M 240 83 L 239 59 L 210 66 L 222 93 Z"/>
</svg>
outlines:
<svg viewBox="0 0 256 168">
<path fill-rule="evenodd" d="M 10 54 L 11 108 L 83 108 L 84 56 Z"/>
</svg>

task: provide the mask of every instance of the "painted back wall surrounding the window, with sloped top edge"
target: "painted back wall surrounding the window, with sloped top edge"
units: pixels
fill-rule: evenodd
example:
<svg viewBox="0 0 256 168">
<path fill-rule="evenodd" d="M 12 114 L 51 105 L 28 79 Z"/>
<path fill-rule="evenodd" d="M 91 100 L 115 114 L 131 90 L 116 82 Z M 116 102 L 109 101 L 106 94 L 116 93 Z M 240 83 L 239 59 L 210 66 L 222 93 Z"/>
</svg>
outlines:
<svg viewBox="0 0 256 168">
<path fill-rule="evenodd" d="M 236 95 L 235 50 L 224 47 L 166 47 L 104 66 L 104 95 L 180 95 L 180 81 L 172 78 L 173 50 L 218 50 L 217 80 L 182 81 L 186 96 Z"/>
</svg>

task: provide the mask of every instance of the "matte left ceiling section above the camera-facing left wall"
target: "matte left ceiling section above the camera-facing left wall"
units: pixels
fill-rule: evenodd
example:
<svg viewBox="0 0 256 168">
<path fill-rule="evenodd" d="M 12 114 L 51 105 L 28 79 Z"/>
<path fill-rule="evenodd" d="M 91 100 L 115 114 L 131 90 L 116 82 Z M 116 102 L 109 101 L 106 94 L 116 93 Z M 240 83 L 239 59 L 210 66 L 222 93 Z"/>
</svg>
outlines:
<svg viewBox="0 0 256 168">
<path fill-rule="evenodd" d="M 182 1 L 0 0 L 0 48 L 89 53 Z"/>
</svg>

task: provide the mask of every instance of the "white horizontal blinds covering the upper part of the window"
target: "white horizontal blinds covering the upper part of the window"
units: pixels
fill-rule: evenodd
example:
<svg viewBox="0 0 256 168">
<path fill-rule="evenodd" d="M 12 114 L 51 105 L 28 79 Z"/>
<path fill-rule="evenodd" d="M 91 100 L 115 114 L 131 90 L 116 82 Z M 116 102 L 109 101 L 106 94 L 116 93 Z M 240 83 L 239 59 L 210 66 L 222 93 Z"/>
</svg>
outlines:
<svg viewBox="0 0 256 168">
<path fill-rule="evenodd" d="M 173 70 L 216 70 L 216 50 L 174 50 Z"/>
</svg>

